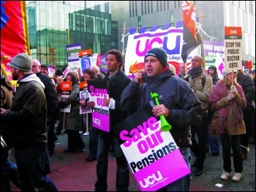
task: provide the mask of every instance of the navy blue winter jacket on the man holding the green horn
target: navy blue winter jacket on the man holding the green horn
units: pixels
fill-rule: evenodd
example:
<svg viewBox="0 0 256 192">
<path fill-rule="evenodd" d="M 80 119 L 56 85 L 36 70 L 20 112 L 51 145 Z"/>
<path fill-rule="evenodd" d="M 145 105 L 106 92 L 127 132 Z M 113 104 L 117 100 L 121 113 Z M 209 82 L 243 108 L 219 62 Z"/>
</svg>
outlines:
<svg viewBox="0 0 256 192">
<path fill-rule="evenodd" d="M 159 104 L 170 110 L 166 120 L 172 126 L 170 134 L 178 147 L 192 145 L 190 125 L 200 122 L 203 110 L 189 83 L 169 70 L 156 77 L 146 77 L 146 83 L 141 86 L 132 81 L 121 94 L 121 110 L 135 112 L 154 101 L 151 92 L 158 93 Z"/>
</svg>

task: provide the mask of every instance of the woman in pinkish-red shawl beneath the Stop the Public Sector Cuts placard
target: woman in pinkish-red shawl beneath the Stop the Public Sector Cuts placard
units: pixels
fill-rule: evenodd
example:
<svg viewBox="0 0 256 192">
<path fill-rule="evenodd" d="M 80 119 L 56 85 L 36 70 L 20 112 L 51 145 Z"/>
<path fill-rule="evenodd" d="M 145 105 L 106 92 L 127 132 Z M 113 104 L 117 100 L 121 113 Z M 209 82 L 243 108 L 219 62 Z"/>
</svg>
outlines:
<svg viewBox="0 0 256 192">
<path fill-rule="evenodd" d="M 217 82 L 209 96 L 211 109 L 214 110 L 210 135 L 220 134 L 222 142 L 224 172 L 220 179 L 227 180 L 231 175 L 231 146 L 235 169 L 232 180 L 239 181 L 243 171 L 240 137 L 245 134 L 241 108 L 246 107 L 246 99 L 241 85 L 236 82 L 237 71 L 226 71 L 223 74 L 224 79 Z"/>
</svg>

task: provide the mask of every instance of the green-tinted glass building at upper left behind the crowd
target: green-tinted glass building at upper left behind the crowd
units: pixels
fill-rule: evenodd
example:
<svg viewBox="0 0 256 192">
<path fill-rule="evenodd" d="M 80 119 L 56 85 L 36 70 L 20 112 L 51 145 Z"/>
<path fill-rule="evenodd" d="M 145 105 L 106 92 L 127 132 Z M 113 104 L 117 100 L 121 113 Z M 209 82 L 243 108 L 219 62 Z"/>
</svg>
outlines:
<svg viewBox="0 0 256 192">
<path fill-rule="evenodd" d="M 31 57 L 41 64 L 67 67 L 66 45 L 105 54 L 118 49 L 118 26 L 110 2 L 26 1 Z"/>
</svg>

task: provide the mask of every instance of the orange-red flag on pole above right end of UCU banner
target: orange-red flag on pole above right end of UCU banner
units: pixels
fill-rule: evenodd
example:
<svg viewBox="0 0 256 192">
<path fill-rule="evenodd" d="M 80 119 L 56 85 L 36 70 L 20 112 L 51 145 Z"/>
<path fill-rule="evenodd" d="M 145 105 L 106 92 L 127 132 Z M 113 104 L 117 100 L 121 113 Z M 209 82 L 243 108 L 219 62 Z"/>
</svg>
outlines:
<svg viewBox="0 0 256 192">
<path fill-rule="evenodd" d="M 191 53 L 195 47 L 202 43 L 202 39 L 195 20 L 195 5 L 193 1 L 182 1 L 182 12 L 184 25 L 181 58 L 186 64 L 187 55 L 189 55 L 189 53 Z"/>
</svg>

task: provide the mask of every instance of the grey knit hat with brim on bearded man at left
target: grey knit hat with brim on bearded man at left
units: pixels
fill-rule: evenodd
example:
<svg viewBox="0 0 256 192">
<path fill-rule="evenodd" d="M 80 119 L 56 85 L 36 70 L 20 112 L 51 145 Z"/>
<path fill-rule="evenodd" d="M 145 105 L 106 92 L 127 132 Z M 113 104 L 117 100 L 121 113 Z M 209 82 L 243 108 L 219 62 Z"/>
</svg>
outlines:
<svg viewBox="0 0 256 192">
<path fill-rule="evenodd" d="M 15 55 L 15 57 L 12 59 L 12 62 L 7 65 L 23 72 L 31 72 L 32 59 L 26 53 L 19 53 L 18 55 Z"/>
</svg>

